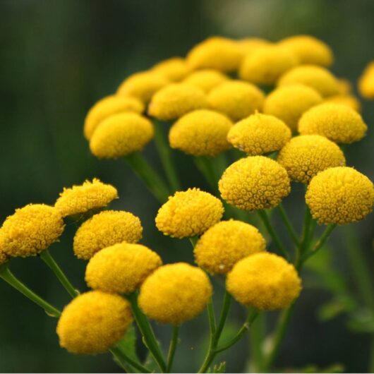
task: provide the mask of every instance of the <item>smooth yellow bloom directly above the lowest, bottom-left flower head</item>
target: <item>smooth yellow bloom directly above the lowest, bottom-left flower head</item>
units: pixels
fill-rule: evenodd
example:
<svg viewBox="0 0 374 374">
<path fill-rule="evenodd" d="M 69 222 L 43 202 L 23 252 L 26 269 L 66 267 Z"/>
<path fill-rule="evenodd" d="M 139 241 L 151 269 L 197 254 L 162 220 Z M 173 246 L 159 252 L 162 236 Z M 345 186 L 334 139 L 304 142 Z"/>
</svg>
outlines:
<svg viewBox="0 0 374 374">
<path fill-rule="evenodd" d="M 140 244 L 121 243 L 96 253 L 85 270 L 85 281 L 92 289 L 114 294 L 131 294 L 162 260 Z"/>
</svg>

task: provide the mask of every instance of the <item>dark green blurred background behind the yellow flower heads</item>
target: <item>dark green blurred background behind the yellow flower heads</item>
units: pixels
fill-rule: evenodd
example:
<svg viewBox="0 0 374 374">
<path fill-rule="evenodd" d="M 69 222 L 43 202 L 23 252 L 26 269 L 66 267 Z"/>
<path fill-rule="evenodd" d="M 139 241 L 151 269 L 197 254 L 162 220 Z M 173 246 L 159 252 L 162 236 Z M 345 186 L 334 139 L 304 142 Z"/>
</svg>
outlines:
<svg viewBox="0 0 374 374">
<path fill-rule="evenodd" d="M 82 133 L 85 114 L 129 74 L 161 59 L 183 56 L 210 35 L 277 41 L 300 33 L 330 44 L 336 56 L 332 70 L 355 83 L 365 64 L 374 59 L 374 1 L 1 0 L 1 221 L 30 202 L 53 204 L 64 186 L 97 176 L 119 189 L 114 208 L 142 219 L 143 243 L 161 253 L 166 263 L 192 261 L 187 241 L 167 239 L 157 232 L 157 202 L 126 164 L 90 155 Z M 373 180 L 373 102 L 363 102 L 363 116 L 368 136 L 346 147 L 346 158 Z M 146 154 L 159 168 L 153 145 Z M 191 161 L 177 157 L 184 185 L 207 188 Z M 285 204 L 298 224 L 303 204 L 300 186 L 294 186 Z M 52 253 L 84 290 L 85 263 L 76 260 L 71 249 L 75 230 L 76 224 L 69 224 Z M 363 251 L 371 275 L 372 243 L 373 215 L 351 228 L 338 228 L 330 241 L 332 248 L 326 248 L 306 270 L 305 289 L 277 361 L 279 370 L 333 366 L 337 371 L 368 371 L 370 351 L 374 351 L 368 308 L 372 290 L 363 291 L 357 279 L 363 272 L 356 251 Z M 68 302 L 68 295 L 39 258 L 12 260 L 11 269 L 57 306 Z M 215 296 L 219 304 L 219 290 Z M 243 309 L 235 306 L 227 334 L 243 318 Z M 269 313 L 270 327 L 274 318 Z M 109 354 L 73 356 L 60 349 L 55 326 L 56 320 L 0 282 L 0 371 L 119 370 Z M 156 328 L 166 342 L 169 327 Z M 205 315 L 182 327 L 175 370 L 190 372 L 198 366 L 206 345 L 205 329 Z M 248 339 L 243 339 L 222 355 L 222 361 L 229 359 L 227 370 L 247 370 L 248 351 Z"/>
</svg>

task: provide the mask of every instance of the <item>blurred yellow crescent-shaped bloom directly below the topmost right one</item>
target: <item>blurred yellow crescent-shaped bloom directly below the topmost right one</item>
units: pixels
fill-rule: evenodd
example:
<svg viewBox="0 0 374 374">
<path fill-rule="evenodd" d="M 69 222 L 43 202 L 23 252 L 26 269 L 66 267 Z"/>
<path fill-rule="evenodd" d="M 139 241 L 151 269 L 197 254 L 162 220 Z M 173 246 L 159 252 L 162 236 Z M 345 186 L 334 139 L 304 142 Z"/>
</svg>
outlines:
<svg viewBox="0 0 374 374">
<path fill-rule="evenodd" d="M 287 71 L 277 83 L 283 85 L 308 85 L 320 93 L 322 97 L 337 95 L 339 81 L 326 68 L 315 65 L 301 65 Z"/>
</svg>

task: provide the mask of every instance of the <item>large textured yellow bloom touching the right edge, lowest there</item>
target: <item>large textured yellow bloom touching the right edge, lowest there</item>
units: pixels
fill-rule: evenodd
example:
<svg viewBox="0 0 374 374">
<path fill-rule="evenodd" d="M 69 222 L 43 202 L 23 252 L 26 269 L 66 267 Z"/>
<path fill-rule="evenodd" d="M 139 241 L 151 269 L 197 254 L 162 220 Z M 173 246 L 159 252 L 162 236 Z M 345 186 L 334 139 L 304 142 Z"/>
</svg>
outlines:
<svg viewBox="0 0 374 374">
<path fill-rule="evenodd" d="M 319 224 L 356 222 L 373 210 L 373 183 L 351 167 L 327 169 L 310 181 L 306 203 Z"/>
</svg>

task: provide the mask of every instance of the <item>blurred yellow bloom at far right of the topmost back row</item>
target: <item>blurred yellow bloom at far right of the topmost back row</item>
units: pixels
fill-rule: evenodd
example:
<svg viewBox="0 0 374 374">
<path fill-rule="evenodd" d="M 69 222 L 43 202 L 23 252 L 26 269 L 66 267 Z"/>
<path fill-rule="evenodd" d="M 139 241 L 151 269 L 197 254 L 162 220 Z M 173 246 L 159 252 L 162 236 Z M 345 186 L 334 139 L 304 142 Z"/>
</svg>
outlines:
<svg viewBox="0 0 374 374">
<path fill-rule="evenodd" d="M 291 49 L 301 64 L 330 66 L 334 61 L 334 54 L 330 47 L 310 35 L 286 37 L 279 42 L 279 45 Z"/>
</svg>

